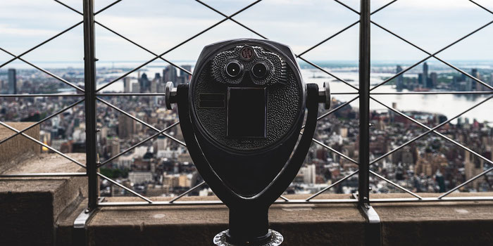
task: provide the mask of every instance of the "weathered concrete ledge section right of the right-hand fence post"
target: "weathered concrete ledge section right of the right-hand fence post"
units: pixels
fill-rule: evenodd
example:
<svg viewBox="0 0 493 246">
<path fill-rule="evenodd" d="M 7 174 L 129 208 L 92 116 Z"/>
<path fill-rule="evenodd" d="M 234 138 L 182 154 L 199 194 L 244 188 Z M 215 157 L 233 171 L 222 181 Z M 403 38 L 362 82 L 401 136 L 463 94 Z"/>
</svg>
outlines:
<svg viewBox="0 0 493 246">
<path fill-rule="evenodd" d="M 450 196 L 476 195 L 493 194 Z M 493 202 L 375 203 L 373 207 L 382 221 L 383 245 L 493 245 Z"/>
</svg>

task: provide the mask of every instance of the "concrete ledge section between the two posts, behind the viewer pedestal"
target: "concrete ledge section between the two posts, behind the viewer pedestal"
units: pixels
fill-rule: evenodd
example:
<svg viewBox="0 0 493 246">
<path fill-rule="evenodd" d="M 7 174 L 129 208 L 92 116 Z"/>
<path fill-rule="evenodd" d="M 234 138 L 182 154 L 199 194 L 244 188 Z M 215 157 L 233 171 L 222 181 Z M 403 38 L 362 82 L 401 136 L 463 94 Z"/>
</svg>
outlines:
<svg viewBox="0 0 493 246">
<path fill-rule="evenodd" d="M 116 200 L 129 198 L 108 199 Z M 211 245 L 227 219 L 224 205 L 104 207 L 88 224 L 89 245 Z M 273 205 L 269 221 L 286 246 L 363 244 L 364 219 L 354 205 Z"/>
</svg>

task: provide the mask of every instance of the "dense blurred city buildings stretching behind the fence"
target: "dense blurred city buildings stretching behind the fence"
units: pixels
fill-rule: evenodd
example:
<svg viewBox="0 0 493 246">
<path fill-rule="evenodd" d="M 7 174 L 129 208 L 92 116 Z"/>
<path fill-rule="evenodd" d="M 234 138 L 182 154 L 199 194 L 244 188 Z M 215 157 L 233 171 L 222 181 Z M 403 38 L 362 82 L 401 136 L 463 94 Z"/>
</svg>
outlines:
<svg viewBox="0 0 493 246">
<path fill-rule="evenodd" d="M 191 71 L 191 65 L 182 65 Z M 401 72 L 404 65 L 394 65 L 394 74 Z M 388 70 L 378 68 L 375 70 Z M 180 194 L 202 181 L 197 173 L 187 148 L 182 144 L 182 133 L 177 122 L 177 110 L 164 107 L 165 84 L 187 83 L 187 72 L 169 65 L 159 68 L 159 72 L 137 71 L 121 79 L 121 91 L 105 90 L 105 93 L 128 93 L 120 96 L 100 96 L 96 103 L 96 119 L 99 128 L 99 160 L 104 165 L 101 173 L 147 196 L 173 196 Z M 98 85 L 111 82 L 127 72 L 125 68 L 101 67 L 98 70 Z M 162 71 L 162 72 L 161 72 Z M 84 86 L 84 71 L 78 68 L 51 70 L 72 84 Z M 432 70 L 427 63 L 419 68 L 400 75 L 389 84 L 395 91 L 489 91 L 487 86 L 475 82 L 458 72 Z M 471 76 L 493 85 L 493 71 L 472 68 Z M 388 73 L 388 71 L 387 71 Z M 389 76 L 382 75 L 382 80 Z M 340 82 L 335 82 L 340 83 Z M 98 87 L 99 87 L 98 86 Z M 109 87 L 108 87 L 109 88 Z M 0 70 L 1 94 L 24 93 L 73 93 L 73 96 L 50 97 L 0 97 L 0 120 L 2 122 L 38 122 L 45 117 L 62 110 L 82 99 L 70 86 L 53 79 L 37 70 Z M 132 93 L 161 93 L 158 96 L 132 96 Z M 475 97 L 475 95 L 466 95 Z M 474 98 L 473 98 L 474 99 Z M 332 98 L 332 108 L 344 101 L 337 96 Z M 428 112 L 423 108 L 400 110 L 399 104 L 389 107 L 404 112 L 408 117 L 428 127 L 447 121 L 447 116 L 437 112 Z M 127 112 L 125 115 L 123 112 Z M 322 115 L 325 110 L 320 110 Z M 459 113 L 459 112 L 457 112 Z M 137 122 L 137 120 L 142 122 Z M 425 133 L 426 129 L 406 119 L 392 110 L 372 110 L 370 112 L 370 160 L 385 155 L 413 138 Z M 479 155 L 493 160 L 493 128 L 491 122 L 478 121 L 468 117 L 459 117 L 455 124 L 444 124 L 437 131 L 467 146 Z M 163 134 L 144 141 L 150 136 L 170 127 Z M 85 116 L 84 103 L 77 103 L 56 117 L 41 124 L 40 141 L 62 153 L 85 152 Z M 342 179 L 358 169 L 358 108 L 346 105 L 332 115 L 323 117 L 318 123 L 315 138 L 306 157 L 304 166 L 286 190 L 286 193 L 316 193 L 331 183 Z M 4 144 L 8 144 L 4 143 Z M 137 145 L 135 148 L 132 146 Z M 325 148 L 345 155 L 341 157 Z M 41 147 L 40 147 L 41 148 Z M 48 149 L 43 148 L 45 153 Z M 463 181 L 480 174 L 491 165 L 481 158 L 470 154 L 458 145 L 447 141 L 437 134 L 427 134 L 400 148 L 391 155 L 382 157 L 372 164 L 377 174 L 394 181 L 413 192 L 442 193 L 454 188 Z M 370 176 L 373 193 L 402 192 L 392 184 Z M 358 187 L 357 175 L 327 190 L 327 193 L 354 193 Z M 493 190 L 493 173 L 476 179 L 461 189 L 462 192 Z M 210 189 L 203 186 L 191 195 L 212 195 Z M 126 190 L 112 186 L 101 180 L 101 195 L 131 195 Z"/>
</svg>

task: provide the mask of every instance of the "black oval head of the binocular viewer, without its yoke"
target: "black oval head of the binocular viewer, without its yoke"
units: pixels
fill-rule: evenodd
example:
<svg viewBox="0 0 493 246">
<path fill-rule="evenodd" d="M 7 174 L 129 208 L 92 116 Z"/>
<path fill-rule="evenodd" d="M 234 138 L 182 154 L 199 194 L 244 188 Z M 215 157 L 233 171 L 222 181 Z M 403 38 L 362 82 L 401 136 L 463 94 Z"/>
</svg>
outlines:
<svg viewBox="0 0 493 246">
<path fill-rule="evenodd" d="M 239 56 L 244 48 L 249 48 L 251 52 L 263 52 L 268 54 L 268 57 L 251 55 L 245 60 Z M 277 77 L 267 77 L 272 81 L 259 83 L 250 77 L 251 65 L 259 60 L 275 63 L 275 59 L 279 61 L 271 67 L 270 73 L 277 74 Z M 230 60 L 242 63 L 244 71 L 239 78 L 230 79 L 227 75 L 221 75 L 224 65 L 229 64 Z M 287 74 L 289 78 L 286 79 L 282 74 Z M 273 82 L 281 79 L 285 82 Z M 238 134 L 228 132 L 228 129 L 232 128 L 232 120 L 229 117 L 233 115 L 230 107 L 232 105 L 229 105 L 230 89 L 265 89 L 265 134 L 235 137 Z M 224 96 L 214 96 L 221 94 Z M 292 51 L 287 46 L 273 41 L 237 39 L 218 42 L 204 48 L 189 85 L 189 112 L 193 131 L 201 146 L 201 152 L 206 155 L 211 167 L 235 193 L 244 197 L 254 197 L 261 193 L 284 167 L 299 138 L 305 112 L 305 95 L 306 85 L 301 79 Z M 210 106 L 211 98 L 224 98 L 224 107 L 201 107 L 205 102 Z M 252 98 L 244 103 L 253 107 L 254 100 L 258 101 L 261 98 Z M 216 105 L 220 106 L 218 101 Z M 248 128 L 245 128 L 245 131 L 247 130 Z"/>
</svg>

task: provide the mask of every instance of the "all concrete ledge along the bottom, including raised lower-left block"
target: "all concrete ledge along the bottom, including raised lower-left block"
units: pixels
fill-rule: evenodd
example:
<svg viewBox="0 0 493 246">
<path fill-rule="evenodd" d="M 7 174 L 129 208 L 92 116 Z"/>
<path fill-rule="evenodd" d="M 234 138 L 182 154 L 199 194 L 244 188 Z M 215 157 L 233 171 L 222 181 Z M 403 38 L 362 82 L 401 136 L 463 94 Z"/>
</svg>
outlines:
<svg viewBox="0 0 493 246">
<path fill-rule="evenodd" d="M 84 163 L 84 154 L 69 154 Z M 81 167 L 55 154 L 19 161 L 8 174 L 76 172 Z M 77 245 L 73 223 L 87 206 L 85 177 L 0 179 L 0 245 Z M 436 197 L 437 194 L 420 194 Z M 450 196 L 493 196 L 452 193 Z M 287 195 L 304 199 L 307 195 Z M 371 198 L 408 198 L 403 193 Z M 343 194 L 318 199 L 350 198 Z M 170 198 L 151 198 L 169 200 Z M 106 198 L 106 202 L 141 201 Z M 217 200 L 192 197 L 182 200 Z M 493 202 L 374 203 L 382 221 L 383 245 L 493 245 Z M 283 245 L 365 245 L 366 221 L 354 204 L 276 204 L 270 227 Z M 100 207 L 89 219 L 89 245 L 211 245 L 227 228 L 225 205 Z"/>
</svg>

